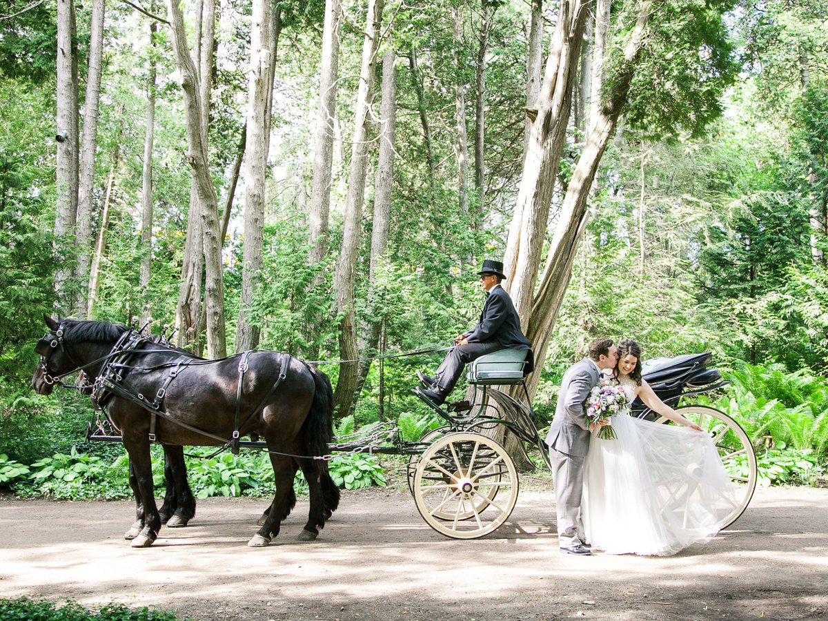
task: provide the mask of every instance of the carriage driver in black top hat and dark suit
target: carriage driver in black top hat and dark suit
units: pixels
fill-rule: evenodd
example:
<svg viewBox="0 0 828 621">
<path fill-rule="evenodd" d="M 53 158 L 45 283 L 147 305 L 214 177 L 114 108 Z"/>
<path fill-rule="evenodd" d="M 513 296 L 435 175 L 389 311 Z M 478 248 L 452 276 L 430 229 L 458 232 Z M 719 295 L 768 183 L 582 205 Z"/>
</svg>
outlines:
<svg viewBox="0 0 828 621">
<path fill-rule="evenodd" d="M 520 318 L 512 304 L 512 298 L 500 286 L 505 278 L 503 263 L 486 260 L 478 272 L 480 285 L 486 291 L 486 301 L 480 313 L 480 321 L 471 330 L 455 337 L 454 346 L 445 354 L 445 359 L 437 368 L 434 377 L 417 371 L 422 388 L 415 390 L 436 405 L 445 402 L 451 389 L 463 374 L 467 363 L 484 354 L 491 354 L 498 349 L 521 349 L 527 351 L 527 365 L 524 373 L 532 373 L 534 357 L 532 344 L 520 330 Z"/>
</svg>

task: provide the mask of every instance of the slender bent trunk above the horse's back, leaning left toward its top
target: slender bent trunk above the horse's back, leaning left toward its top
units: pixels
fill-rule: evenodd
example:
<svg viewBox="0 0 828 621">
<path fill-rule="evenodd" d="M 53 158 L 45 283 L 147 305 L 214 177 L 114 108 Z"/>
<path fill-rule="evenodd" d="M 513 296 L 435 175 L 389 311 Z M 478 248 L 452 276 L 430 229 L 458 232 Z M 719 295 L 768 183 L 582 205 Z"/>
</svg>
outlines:
<svg viewBox="0 0 828 621">
<path fill-rule="evenodd" d="M 187 49 L 184 16 L 176 0 L 167 0 L 171 17 L 173 54 L 181 74 L 184 94 L 187 160 L 193 171 L 200 203 L 200 220 L 205 253 L 205 308 L 207 351 L 209 358 L 223 358 L 227 351 L 224 333 L 224 274 L 219 239 L 219 208 L 215 188 L 209 175 L 207 128 L 202 121 L 199 78 Z"/>
</svg>

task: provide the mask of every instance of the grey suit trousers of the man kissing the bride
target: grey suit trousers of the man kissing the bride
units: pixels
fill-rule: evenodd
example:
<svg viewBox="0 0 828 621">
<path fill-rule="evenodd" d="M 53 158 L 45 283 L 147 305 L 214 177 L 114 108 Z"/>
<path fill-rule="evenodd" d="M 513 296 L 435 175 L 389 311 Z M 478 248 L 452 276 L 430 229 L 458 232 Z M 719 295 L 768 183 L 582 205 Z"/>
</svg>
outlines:
<svg viewBox="0 0 828 621">
<path fill-rule="evenodd" d="M 558 518 L 558 542 L 561 547 L 585 541 L 580 500 L 584 485 L 585 455 L 566 455 L 549 449 L 552 462 L 552 484 L 555 486 L 555 508 Z"/>
</svg>

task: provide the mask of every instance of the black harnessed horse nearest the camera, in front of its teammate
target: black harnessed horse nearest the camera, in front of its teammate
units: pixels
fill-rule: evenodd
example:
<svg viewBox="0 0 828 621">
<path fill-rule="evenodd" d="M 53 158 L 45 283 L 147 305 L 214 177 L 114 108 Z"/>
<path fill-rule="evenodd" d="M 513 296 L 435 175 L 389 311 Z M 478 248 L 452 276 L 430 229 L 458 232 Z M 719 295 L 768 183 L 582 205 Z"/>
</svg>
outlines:
<svg viewBox="0 0 828 621">
<path fill-rule="evenodd" d="M 152 441 L 165 445 L 168 482 L 176 489 L 177 499 L 171 498 L 168 483 L 166 504 L 186 505 L 189 486 L 183 487 L 180 447 L 260 436 L 270 452 L 276 494 L 248 546 L 267 546 L 279 533 L 282 519 L 296 504 L 293 480 L 299 468 L 310 488 L 310 513 L 299 539 L 315 539 L 325 527 L 325 518 L 339 505 L 339 489 L 327 461 L 320 459 L 333 437 L 333 392 L 325 373 L 289 354 L 255 351 L 207 361 L 124 325 L 47 315 L 44 320 L 49 332 L 35 348 L 41 363 L 32 388 L 49 394 L 57 379 L 79 368 L 94 383 L 93 398 L 121 432 L 129 455 L 137 502 L 133 527 L 141 528 L 132 546 L 151 545 L 161 528 L 152 489 Z"/>
</svg>

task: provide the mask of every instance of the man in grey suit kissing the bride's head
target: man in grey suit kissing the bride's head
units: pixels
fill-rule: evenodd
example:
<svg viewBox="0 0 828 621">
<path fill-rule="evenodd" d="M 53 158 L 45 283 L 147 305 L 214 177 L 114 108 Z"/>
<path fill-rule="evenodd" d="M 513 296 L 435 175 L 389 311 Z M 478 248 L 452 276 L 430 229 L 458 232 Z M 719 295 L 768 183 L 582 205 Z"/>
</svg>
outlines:
<svg viewBox="0 0 828 621">
<path fill-rule="evenodd" d="M 584 460 L 590 448 L 590 423 L 584 404 L 600 381 L 604 368 L 613 368 L 618 353 L 610 339 L 590 343 L 590 357 L 573 364 L 561 380 L 561 392 L 546 444 L 552 462 L 555 486 L 558 542 L 569 554 L 591 554 L 584 541 L 580 498 L 584 480 Z"/>
</svg>

